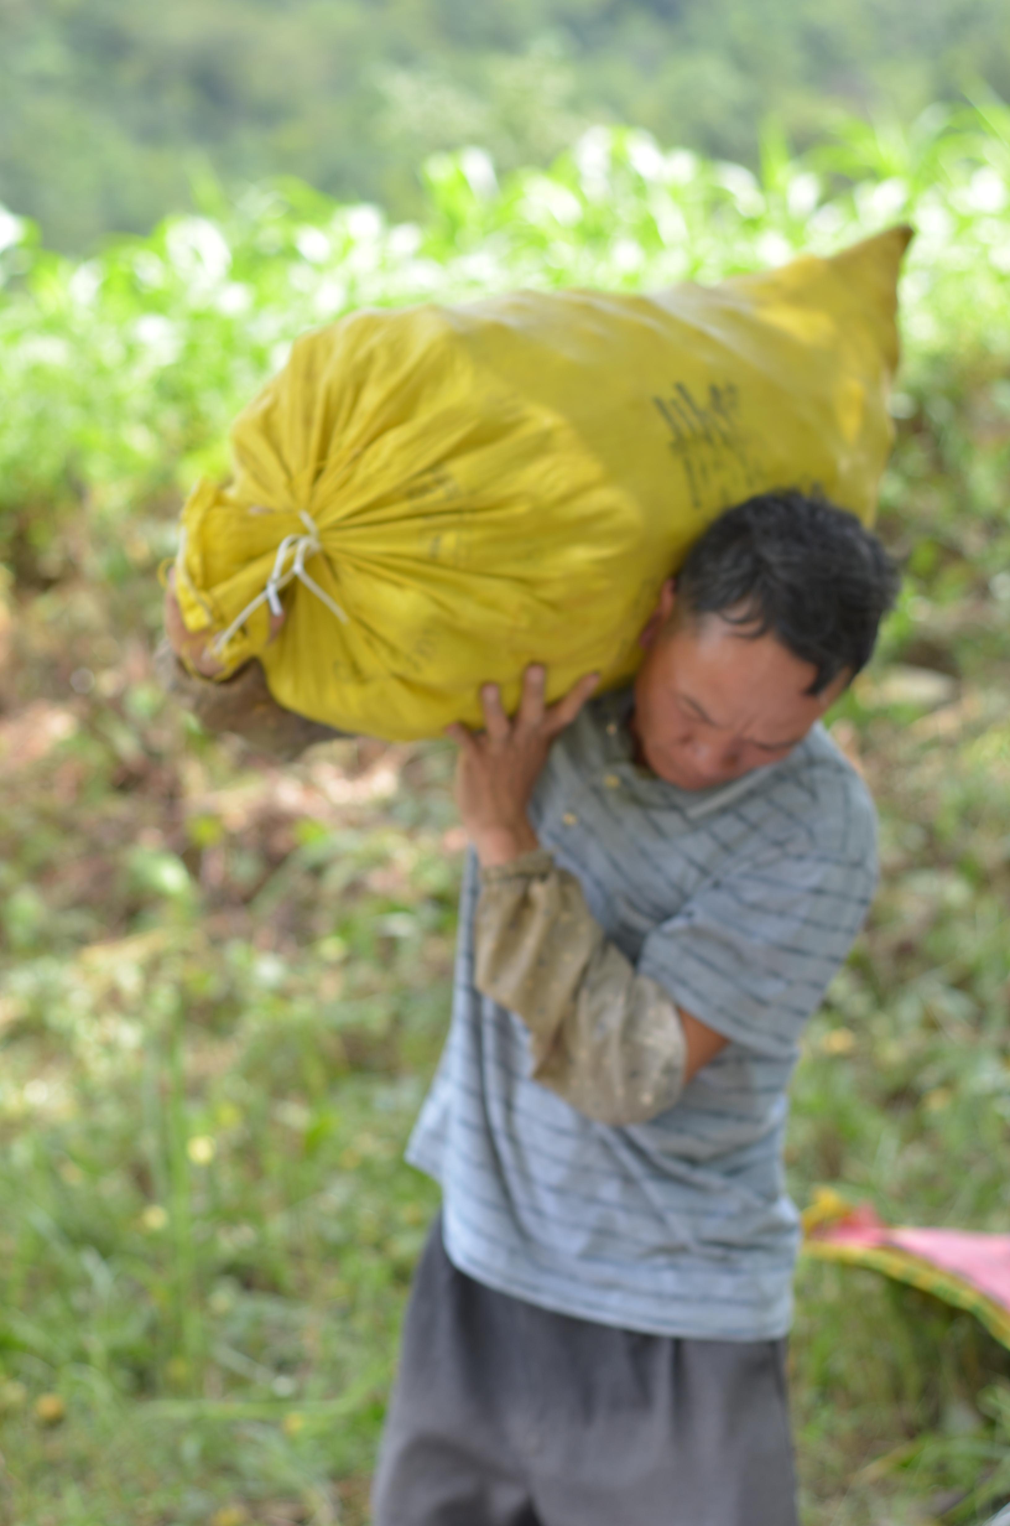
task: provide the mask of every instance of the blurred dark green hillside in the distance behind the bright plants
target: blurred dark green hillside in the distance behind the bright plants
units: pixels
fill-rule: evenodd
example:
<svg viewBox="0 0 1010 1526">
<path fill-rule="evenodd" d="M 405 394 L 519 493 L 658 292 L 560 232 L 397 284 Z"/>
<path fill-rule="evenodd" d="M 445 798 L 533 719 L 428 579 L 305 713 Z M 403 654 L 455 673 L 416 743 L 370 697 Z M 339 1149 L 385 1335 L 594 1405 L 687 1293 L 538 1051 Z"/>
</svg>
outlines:
<svg viewBox="0 0 1010 1526">
<path fill-rule="evenodd" d="M 417 215 L 464 143 L 545 165 L 592 122 L 757 168 L 839 110 L 1010 96 L 1004 0 L 0 0 L 0 203 L 85 250 L 293 174 Z"/>
</svg>

